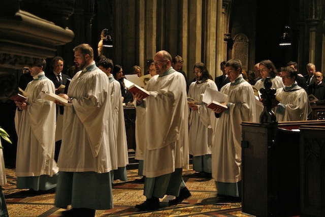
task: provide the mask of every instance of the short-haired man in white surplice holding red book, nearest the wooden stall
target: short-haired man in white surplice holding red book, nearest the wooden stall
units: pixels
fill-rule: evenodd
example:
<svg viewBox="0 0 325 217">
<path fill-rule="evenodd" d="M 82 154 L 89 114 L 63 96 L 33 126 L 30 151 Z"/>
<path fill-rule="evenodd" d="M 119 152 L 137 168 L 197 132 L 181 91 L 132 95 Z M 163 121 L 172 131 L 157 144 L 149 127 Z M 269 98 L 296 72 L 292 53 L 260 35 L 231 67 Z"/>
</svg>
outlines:
<svg viewBox="0 0 325 217">
<path fill-rule="evenodd" d="M 240 200 L 242 164 L 243 121 L 255 121 L 255 97 L 251 85 L 245 81 L 239 59 L 230 59 L 225 70 L 231 83 L 224 85 L 220 92 L 228 96 L 223 104 L 228 107 L 213 109 L 216 133 L 212 138 L 212 177 L 215 180 L 220 200 Z"/>
</svg>

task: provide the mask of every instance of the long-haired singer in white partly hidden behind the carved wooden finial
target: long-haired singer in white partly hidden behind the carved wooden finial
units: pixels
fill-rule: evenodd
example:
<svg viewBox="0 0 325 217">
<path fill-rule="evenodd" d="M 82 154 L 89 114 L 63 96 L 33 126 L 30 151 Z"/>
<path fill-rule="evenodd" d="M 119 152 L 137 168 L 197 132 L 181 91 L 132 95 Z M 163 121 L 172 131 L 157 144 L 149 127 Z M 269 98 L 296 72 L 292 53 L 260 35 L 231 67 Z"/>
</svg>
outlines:
<svg viewBox="0 0 325 217">
<path fill-rule="evenodd" d="M 281 77 L 277 76 L 278 72 L 272 63 L 271 60 L 265 59 L 259 62 L 259 72 L 261 73 L 262 79 L 259 79 L 256 81 L 254 87 L 257 90 L 260 90 L 261 88 L 264 88 L 264 81 L 267 77 L 270 77 L 270 80 L 272 82 L 272 88 L 279 89 L 283 87 L 283 82 Z M 256 122 L 259 122 L 259 116 L 261 115 L 263 111 L 263 103 L 256 102 Z"/>
</svg>

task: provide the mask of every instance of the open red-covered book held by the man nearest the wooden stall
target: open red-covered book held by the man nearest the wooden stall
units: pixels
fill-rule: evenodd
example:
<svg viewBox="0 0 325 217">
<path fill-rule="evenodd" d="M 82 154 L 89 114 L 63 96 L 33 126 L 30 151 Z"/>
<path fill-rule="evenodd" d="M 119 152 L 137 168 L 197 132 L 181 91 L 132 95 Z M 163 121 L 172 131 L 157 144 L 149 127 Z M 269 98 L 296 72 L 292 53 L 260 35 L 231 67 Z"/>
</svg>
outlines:
<svg viewBox="0 0 325 217">
<path fill-rule="evenodd" d="M 223 102 L 226 102 L 227 98 L 228 95 L 222 94 L 222 92 L 207 87 L 204 91 L 202 101 L 208 105 L 208 108 L 219 108 L 223 112 L 228 109 L 226 105 L 222 104 Z"/>
</svg>

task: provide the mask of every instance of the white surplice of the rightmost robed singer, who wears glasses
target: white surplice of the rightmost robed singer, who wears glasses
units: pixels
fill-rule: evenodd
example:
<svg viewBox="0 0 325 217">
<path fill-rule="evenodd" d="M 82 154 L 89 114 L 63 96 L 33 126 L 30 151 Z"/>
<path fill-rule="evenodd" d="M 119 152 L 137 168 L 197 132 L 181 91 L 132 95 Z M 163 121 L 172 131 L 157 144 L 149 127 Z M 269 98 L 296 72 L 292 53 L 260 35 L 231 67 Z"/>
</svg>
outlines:
<svg viewBox="0 0 325 217">
<path fill-rule="evenodd" d="M 307 120 L 308 114 L 311 112 L 307 92 L 298 86 L 297 82 L 294 85 L 295 87 L 288 91 L 284 91 L 285 87 L 276 91 L 276 96 L 281 99 L 279 106 L 284 106 L 283 114 L 277 111 L 279 106 L 275 107 L 277 121 Z"/>
</svg>

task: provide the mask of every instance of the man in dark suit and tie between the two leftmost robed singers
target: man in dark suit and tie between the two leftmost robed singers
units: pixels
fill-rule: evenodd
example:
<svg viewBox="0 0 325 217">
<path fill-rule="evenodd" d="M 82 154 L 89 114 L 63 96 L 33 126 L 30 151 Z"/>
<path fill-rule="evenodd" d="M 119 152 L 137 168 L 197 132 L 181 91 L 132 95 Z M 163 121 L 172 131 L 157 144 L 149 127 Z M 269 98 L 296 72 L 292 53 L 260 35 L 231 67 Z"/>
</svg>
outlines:
<svg viewBox="0 0 325 217">
<path fill-rule="evenodd" d="M 55 86 L 55 94 L 67 94 L 68 86 L 70 83 L 70 77 L 62 73 L 64 66 L 64 60 L 60 56 L 55 56 L 52 59 L 53 71 L 46 74 Z M 60 85 L 64 85 L 62 89 L 58 89 Z M 61 138 L 62 138 L 62 125 L 63 125 L 63 106 L 56 105 L 56 132 L 55 132 L 55 152 L 54 160 L 57 161 L 59 156 L 59 151 L 61 147 Z"/>
</svg>

